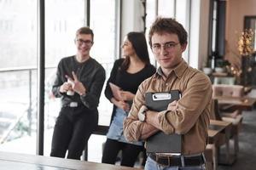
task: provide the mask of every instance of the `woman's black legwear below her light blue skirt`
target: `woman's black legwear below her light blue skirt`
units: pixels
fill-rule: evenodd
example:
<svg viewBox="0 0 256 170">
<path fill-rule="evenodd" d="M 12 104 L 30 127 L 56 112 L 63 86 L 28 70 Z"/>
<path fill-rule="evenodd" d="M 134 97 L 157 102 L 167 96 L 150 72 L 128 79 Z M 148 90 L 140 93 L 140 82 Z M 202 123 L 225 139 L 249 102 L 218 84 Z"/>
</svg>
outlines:
<svg viewBox="0 0 256 170">
<path fill-rule="evenodd" d="M 144 147 L 119 142 L 118 140 L 107 139 L 102 154 L 102 163 L 115 164 L 119 150 L 122 150 L 120 165 L 133 167 L 137 160 L 137 156 L 144 150 Z"/>
</svg>

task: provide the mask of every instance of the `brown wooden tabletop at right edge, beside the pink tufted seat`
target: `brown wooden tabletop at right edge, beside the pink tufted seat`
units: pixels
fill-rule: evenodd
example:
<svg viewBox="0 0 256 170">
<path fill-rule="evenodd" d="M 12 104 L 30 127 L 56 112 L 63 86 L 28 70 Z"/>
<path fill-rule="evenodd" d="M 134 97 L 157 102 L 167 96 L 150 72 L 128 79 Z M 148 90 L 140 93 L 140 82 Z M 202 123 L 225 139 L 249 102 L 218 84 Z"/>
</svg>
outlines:
<svg viewBox="0 0 256 170">
<path fill-rule="evenodd" d="M 253 105 L 256 103 L 256 98 L 249 97 L 218 96 L 213 99 L 218 99 L 219 105 L 230 105 L 233 106 L 234 109 L 247 111 L 251 111 L 253 109 Z"/>
</svg>

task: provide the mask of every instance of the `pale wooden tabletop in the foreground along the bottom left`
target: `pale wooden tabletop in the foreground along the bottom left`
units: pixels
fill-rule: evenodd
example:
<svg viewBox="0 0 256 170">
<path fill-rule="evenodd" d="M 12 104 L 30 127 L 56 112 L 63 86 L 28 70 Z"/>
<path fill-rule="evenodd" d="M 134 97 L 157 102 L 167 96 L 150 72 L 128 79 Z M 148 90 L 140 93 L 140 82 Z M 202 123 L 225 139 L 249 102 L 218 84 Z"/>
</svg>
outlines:
<svg viewBox="0 0 256 170">
<path fill-rule="evenodd" d="M 139 170 L 104 163 L 78 161 L 48 156 L 32 156 L 0 151 L 1 170 Z"/>
</svg>

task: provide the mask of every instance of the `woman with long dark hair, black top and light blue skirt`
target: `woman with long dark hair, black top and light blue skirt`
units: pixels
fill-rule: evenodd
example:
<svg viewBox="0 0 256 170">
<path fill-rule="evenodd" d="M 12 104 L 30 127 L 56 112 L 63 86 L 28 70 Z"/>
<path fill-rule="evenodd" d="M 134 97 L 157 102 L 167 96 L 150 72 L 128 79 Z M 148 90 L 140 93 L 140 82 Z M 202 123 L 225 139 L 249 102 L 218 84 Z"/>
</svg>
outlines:
<svg viewBox="0 0 256 170">
<path fill-rule="evenodd" d="M 104 145 L 102 162 L 114 164 L 122 150 L 121 166 L 133 167 L 138 154 L 143 151 L 143 142 L 128 142 L 123 134 L 123 121 L 128 116 L 132 100 L 141 82 L 151 77 L 155 68 L 150 64 L 145 36 L 142 32 L 130 32 L 122 45 L 125 58 L 117 59 L 107 82 L 105 95 L 113 103 L 113 114 Z M 121 99 L 116 99 L 109 82 L 121 88 Z"/>
</svg>

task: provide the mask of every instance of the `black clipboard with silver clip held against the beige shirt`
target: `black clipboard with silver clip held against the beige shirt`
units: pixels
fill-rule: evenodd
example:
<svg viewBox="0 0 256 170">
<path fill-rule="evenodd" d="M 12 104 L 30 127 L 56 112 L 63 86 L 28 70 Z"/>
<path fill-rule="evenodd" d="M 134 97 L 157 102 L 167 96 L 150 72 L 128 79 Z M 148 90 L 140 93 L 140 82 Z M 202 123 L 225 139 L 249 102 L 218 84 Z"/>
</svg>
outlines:
<svg viewBox="0 0 256 170">
<path fill-rule="evenodd" d="M 151 111 L 165 111 L 172 101 L 180 97 L 178 90 L 167 93 L 146 93 L 146 106 Z M 147 139 L 146 150 L 148 153 L 181 153 L 181 138 L 179 134 L 155 133 Z"/>
</svg>

